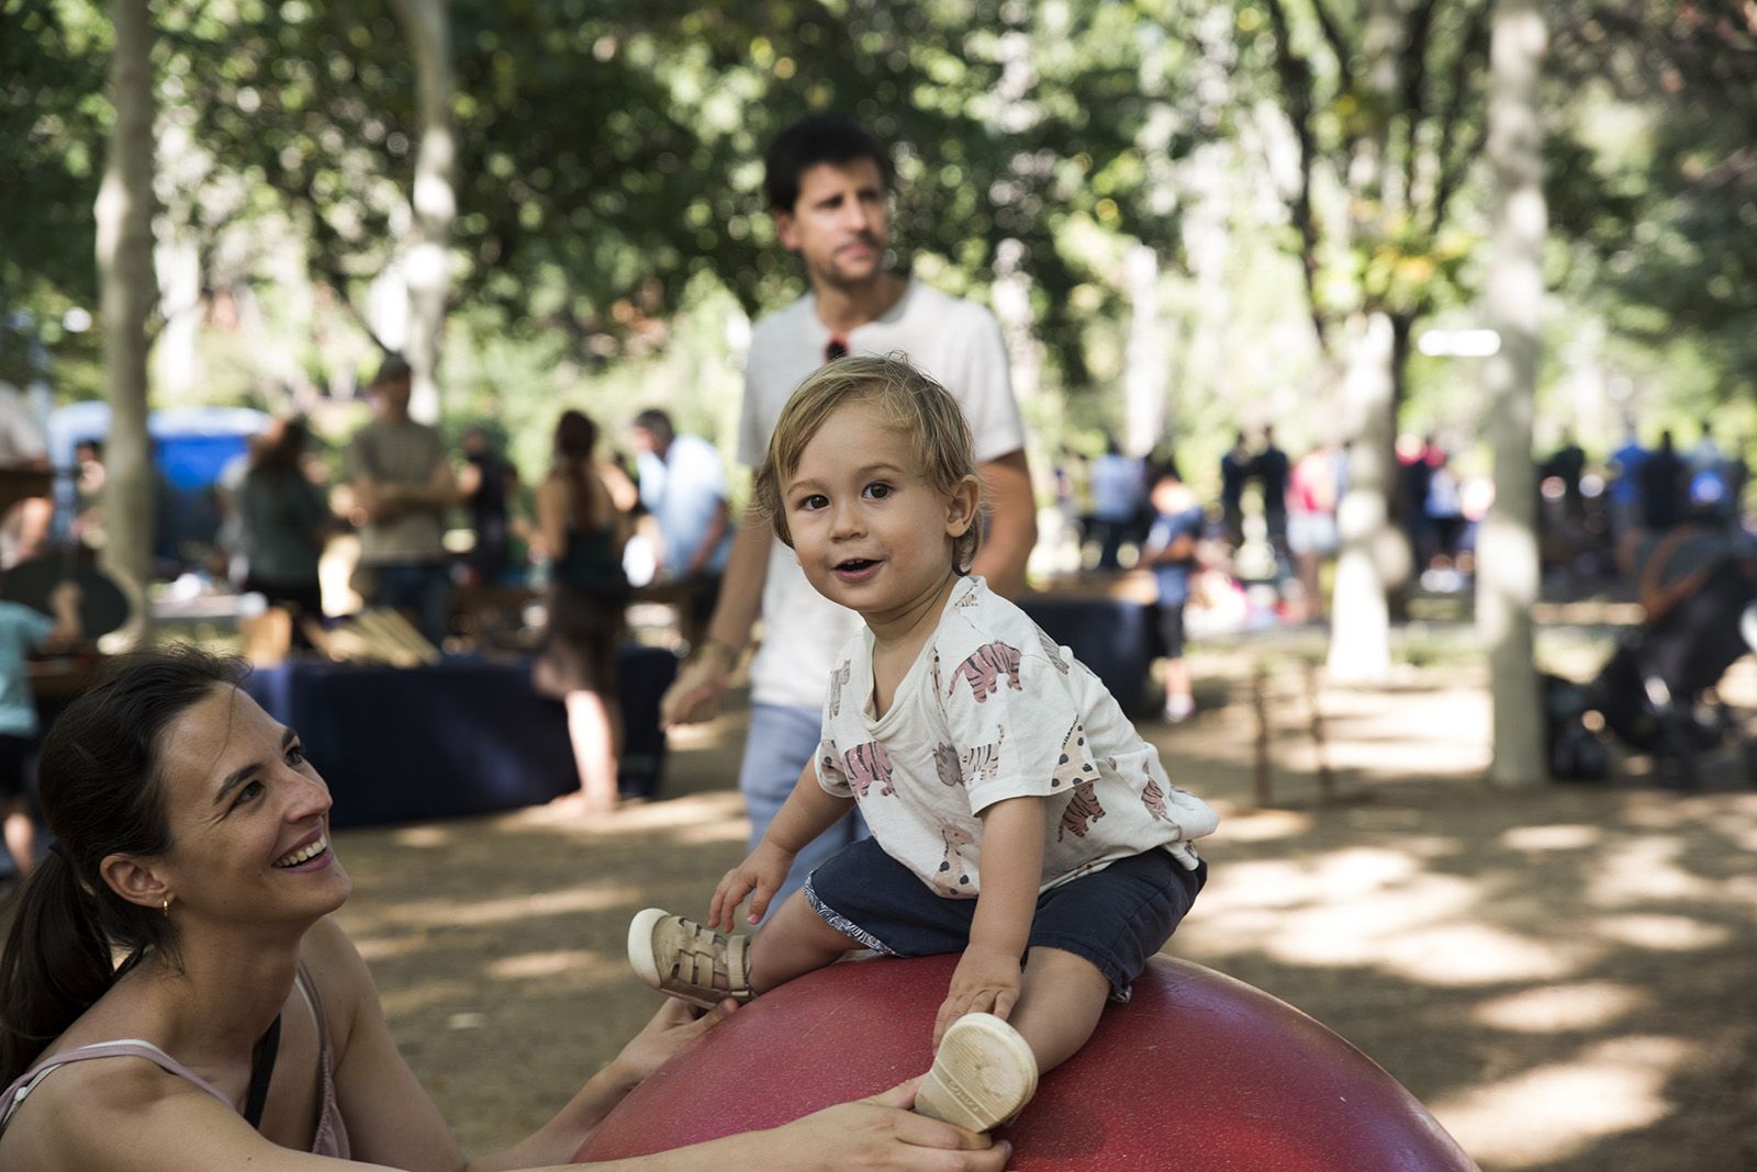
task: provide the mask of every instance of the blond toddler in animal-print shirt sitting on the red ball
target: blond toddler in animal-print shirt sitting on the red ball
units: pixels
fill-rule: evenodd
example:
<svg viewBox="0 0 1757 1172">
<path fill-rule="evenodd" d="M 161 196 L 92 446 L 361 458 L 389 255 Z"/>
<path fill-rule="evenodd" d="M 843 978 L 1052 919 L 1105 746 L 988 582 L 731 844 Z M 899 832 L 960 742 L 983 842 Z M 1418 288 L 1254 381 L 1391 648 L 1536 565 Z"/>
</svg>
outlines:
<svg viewBox="0 0 1757 1172">
<path fill-rule="evenodd" d="M 654 988 L 713 1005 L 852 949 L 961 953 L 915 1109 L 986 1132 L 1128 997 L 1202 890 L 1191 840 L 1216 818 L 1091 670 L 966 575 L 979 495 L 958 404 L 905 361 L 831 361 L 787 402 L 756 505 L 866 630 L 831 677 L 815 763 L 720 881 L 708 925 L 648 909 L 629 958 Z M 761 921 L 798 851 L 856 804 L 873 839 L 754 937 L 727 935 L 747 897 Z"/>
</svg>

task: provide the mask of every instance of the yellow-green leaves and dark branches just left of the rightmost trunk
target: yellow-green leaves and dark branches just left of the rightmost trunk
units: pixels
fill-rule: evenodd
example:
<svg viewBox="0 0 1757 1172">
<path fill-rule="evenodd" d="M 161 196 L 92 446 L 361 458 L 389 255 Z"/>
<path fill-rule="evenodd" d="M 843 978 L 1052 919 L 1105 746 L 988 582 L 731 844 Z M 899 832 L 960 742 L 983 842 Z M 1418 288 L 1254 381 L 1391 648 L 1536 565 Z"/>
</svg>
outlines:
<svg viewBox="0 0 1757 1172">
<path fill-rule="evenodd" d="M 1369 5 L 1239 4 L 1246 84 L 1293 140 L 1286 247 L 1327 346 L 1349 314 L 1407 323 L 1467 291 L 1481 230 L 1458 197 L 1485 135 L 1490 11 L 1423 0 L 1374 26 Z"/>
</svg>

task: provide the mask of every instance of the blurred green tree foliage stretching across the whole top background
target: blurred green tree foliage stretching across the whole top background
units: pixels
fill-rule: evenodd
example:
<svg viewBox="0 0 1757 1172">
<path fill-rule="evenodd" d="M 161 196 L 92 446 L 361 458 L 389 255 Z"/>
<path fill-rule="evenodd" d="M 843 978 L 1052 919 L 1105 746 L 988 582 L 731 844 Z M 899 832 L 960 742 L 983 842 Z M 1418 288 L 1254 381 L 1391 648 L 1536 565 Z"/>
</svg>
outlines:
<svg viewBox="0 0 1757 1172">
<path fill-rule="evenodd" d="M 729 433 L 726 323 L 801 289 L 763 207 L 761 153 L 812 111 L 849 112 L 896 146 L 900 265 L 986 298 L 1003 242 L 1017 242 L 1049 361 L 1033 426 L 1052 442 L 1119 423 L 1137 240 L 1160 256 L 1174 419 L 1198 467 L 1240 419 L 1288 419 L 1290 439 L 1328 423 L 1293 389 L 1323 377 L 1290 330 L 1330 337 L 1360 309 L 1411 326 L 1476 295 L 1488 0 L 1402 5 L 1385 42 L 1392 82 L 1369 51 L 1372 5 L 1341 0 L 448 11 L 446 411 L 504 421 L 536 461 L 562 402 L 611 426 L 666 402 Z M 364 307 L 411 219 L 415 75 L 392 7 L 158 0 L 153 12 L 160 237 L 193 240 L 207 291 L 269 321 L 223 339 L 211 323 L 199 391 L 281 405 L 279 384 L 346 382 L 372 363 Z M 107 14 L 95 0 L 0 0 L 0 189 L 30 193 L 0 200 L 0 311 L 30 309 L 60 382 L 93 391 L 97 333 L 60 321 L 95 309 Z M 1560 288 L 1611 323 L 1606 361 L 1685 402 L 1748 395 L 1748 5 L 1564 0 L 1550 25 Z M 1225 147 L 1218 175 L 1189 167 L 1209 144 Z M 1216 286 L 1184 253 L 1204 200 L 1232 202 L 1225 346 L 1197 337 Z M 257 353 L 264 337 L 274 363 Z M 19 340 L 0 340 L 0 377 L 21 381 Z M 1414 416 L 1465 423 L 1455 365 L 1416 360 L 1407 375 Z"/>
</svg>

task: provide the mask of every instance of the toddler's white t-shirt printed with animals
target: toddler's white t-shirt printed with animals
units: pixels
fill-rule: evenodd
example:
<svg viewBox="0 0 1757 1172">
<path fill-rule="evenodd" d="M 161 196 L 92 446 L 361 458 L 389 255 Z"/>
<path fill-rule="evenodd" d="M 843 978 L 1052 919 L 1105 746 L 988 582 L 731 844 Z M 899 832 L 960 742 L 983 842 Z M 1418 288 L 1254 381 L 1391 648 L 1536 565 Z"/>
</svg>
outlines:
<svg viewBox="0 0 1757 1172">
<path fill-rule="evenodd" d="M 938 895 L 982 890 L 979 814 L 1005 798 L 1049 802 L 1040 890 L 1156 847 L 1195 868 L 1191 840 L 1219 823 L 1091 668 L 980 577 L 952 588 L 882 718 L 871 695 L 863 630 L 831 675 L 817 783 L 852 797 L 886 854 Z"/>
</svg>

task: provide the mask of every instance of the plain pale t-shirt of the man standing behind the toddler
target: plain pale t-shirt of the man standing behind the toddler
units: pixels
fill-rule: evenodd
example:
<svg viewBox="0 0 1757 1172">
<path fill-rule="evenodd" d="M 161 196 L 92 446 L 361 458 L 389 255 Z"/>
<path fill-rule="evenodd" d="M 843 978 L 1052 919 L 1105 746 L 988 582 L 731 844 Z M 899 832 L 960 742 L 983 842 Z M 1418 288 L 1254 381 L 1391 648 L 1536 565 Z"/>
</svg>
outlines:
<svg viewBox="0 0 1757 1172">
<path fill-rule="evenodd" d="M 782 407 L 799 382 L 824 365 L 831 333 L 806 295 L 763 318 L 745 361 L 745 404 L 738 458 L 752 468 L 768 454 Z M 856 354 L 903 354 L 933 375 L 965 409 L 977 461 L 1024 447 L 1024 423 L 1012 398 L 1007 346 L 994 316 L 910 281 L 884 318 L 856 326 L 843 340 Z M 750 663 L 750 698 L 757 704 L 817 707 L 836 647 L 861 626 L 854 611 L 826 600 L 799 570 L 792 549 L 775 542 L 763 586 L 763 646 Z"/>
</svg>

